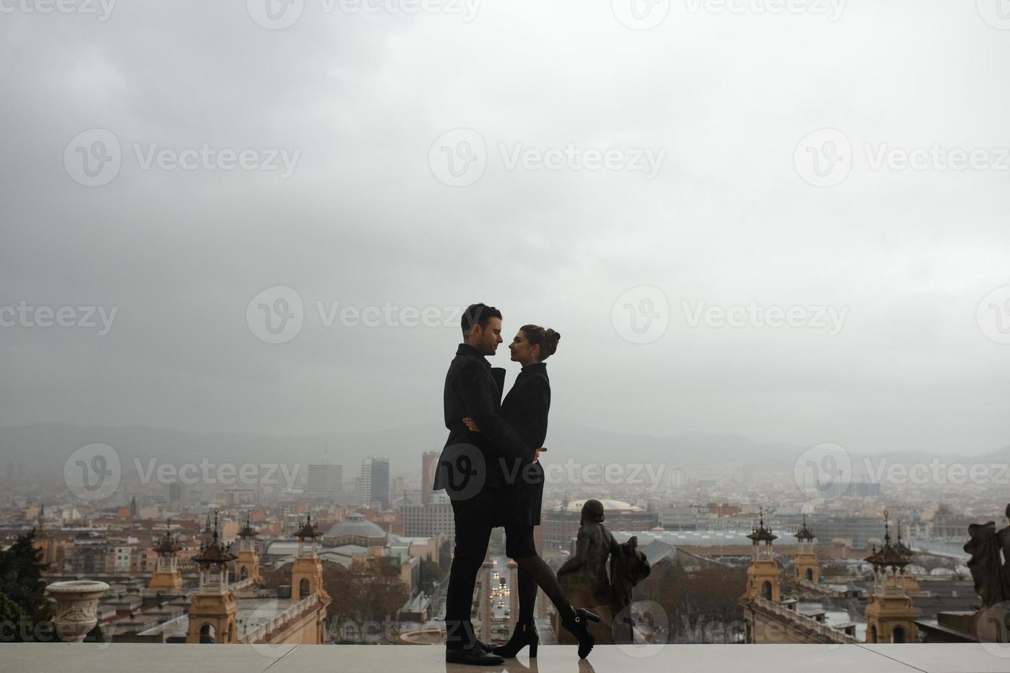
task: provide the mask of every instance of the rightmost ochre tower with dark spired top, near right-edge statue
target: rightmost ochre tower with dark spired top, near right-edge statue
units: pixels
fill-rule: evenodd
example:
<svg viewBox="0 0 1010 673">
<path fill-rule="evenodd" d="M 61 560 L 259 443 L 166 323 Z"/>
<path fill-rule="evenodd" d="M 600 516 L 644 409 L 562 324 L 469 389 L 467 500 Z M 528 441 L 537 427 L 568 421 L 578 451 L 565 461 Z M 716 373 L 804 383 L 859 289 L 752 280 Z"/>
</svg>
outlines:
<svg viewBox="0 0 1010 673">
<path fill-rule="evenodd" d="M 874 589 L 867 603 L 867 643 L 917 643 L 918 612 L 906 592 L 905 566 L 912 550 L 901 542 L 891 543 L 888 513 L 884 513 L 884 546 L 866 558 L 874 566 Z"/>
</svg>

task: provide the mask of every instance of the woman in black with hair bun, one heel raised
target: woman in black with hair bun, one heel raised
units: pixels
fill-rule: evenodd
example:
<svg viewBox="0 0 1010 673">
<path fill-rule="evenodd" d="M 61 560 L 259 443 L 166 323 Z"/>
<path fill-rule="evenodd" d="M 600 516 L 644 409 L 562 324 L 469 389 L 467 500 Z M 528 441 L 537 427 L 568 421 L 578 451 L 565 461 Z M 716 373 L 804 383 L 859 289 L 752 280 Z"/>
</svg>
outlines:
<svg viewBox="0 0 1010 673">
<path fill-rule="evenodd" d="M 519 618 L 512 638 L 496 647 L 501 657 L 514 657 L 529 646 L 529 656 L 536 656 L 539 638 L 533 623 L 536 587 L 543 589 L 558 608 L 562 625 L 579 640 L 579 657 L 585 659 L 593 649 L 594 638 L 587 620 L 600 618 L 585 609 L 574 609 L 565 597 L 558 577 L 533 545 L 533 527 L 540 524 L 543 498 L 543 468 L 537 447 L 547 436 L 547 413 L 550 411 L 550 379 L 543 361 L 558 350 L 561 335 L 537 325 L 523 325 L 509 344 L 512 360 L 522 365 L 512 389 L 502 402 L 501 417 L 519 434 L 527 448 L 521 460 L 505 465 L 505 495 L 496 518 L 505 527 L 505 554 L 519 565 Z M 480 429 L 471 419 L 464 419 L 474 432 Z"/>
</svg>

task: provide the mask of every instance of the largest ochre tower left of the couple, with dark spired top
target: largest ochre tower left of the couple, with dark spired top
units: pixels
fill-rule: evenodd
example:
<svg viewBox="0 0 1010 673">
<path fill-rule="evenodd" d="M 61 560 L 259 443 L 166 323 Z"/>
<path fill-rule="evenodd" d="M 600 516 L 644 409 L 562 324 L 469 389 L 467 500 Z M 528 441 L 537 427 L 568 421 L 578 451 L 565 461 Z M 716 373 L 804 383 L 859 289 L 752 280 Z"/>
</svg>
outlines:
<svg viewBox="0 0 1010 673">
<path fill-rule="evenodd" d="M 193 561 L 200 567 L 200 588 L 193 594 L 189 609 L 187 643 L 238 642 L 235 594 L 228 588 L 228 564 L 237 558 L 221 543 L 217 533 L 217 515 L 211 543 L 203 546 Z"/>
</svg>

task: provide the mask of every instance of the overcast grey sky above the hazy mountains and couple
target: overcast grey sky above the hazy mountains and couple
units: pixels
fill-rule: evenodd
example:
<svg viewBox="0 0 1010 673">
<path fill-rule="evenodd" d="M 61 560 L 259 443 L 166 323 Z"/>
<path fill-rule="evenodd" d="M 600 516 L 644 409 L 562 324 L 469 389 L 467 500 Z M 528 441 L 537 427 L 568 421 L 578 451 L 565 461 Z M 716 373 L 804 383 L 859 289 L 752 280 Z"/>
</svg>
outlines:
<svg viewBox="0 0 1010 673">
<path fill-rule="evenodd" d="M 267 1 L 0 0 L 0 423 L 439 425 L 483 301 L 551 423 L 1010 444 L 995 0 Z"/>
</svg>

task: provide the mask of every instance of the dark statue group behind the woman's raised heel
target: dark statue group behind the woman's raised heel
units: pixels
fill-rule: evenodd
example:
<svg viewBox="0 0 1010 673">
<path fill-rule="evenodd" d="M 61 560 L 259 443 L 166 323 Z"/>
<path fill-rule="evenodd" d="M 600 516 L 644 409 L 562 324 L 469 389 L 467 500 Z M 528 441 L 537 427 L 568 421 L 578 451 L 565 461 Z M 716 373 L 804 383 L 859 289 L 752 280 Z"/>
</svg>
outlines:
<svg viewBox="0 0 1010 673">
<path fill-rule="evenodd" d="M 638 549 L 637 538 L 618 543 L 603 525 L 603 503 L 586 500 L 575 554 L 558 570 L 558 580 L 573 607 L 597 610 L 604 618 L 601 626 L 610 633 L 599 634 L 597 642 L 632 641 L 627 607 L 632 589 L 648 573 L 648 560 Z"/>
</svg>

